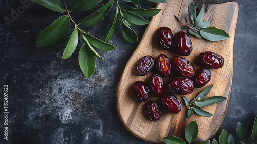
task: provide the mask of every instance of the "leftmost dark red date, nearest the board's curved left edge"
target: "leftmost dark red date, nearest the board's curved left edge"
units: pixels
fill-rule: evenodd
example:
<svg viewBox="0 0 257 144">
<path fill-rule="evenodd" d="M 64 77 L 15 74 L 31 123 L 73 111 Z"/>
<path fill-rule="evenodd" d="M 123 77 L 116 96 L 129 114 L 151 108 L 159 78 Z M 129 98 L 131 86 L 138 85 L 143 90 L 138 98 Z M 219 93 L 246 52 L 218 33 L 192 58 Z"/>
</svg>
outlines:
<svg viewBox="0 0 257 144">
<path fill-rule="evenodd" d="M 140 102 L 145 102 L 149 99 L 149 89 L 142 81 L 136 81 L 133 84 L 133 93 L 135 98 Z"/>
</svg>

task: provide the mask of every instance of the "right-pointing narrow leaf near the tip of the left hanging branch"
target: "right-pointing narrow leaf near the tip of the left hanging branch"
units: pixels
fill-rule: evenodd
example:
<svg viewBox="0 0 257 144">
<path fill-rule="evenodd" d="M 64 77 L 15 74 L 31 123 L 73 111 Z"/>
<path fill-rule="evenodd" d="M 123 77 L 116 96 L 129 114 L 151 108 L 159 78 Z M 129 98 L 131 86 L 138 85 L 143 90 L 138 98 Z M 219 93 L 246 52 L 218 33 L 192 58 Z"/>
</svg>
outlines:
<svg viewBox="0 0 257 144">
<path fill-rule="evenodd" d="M 106 43 L 100 39 L 93 37 L 92 35 L 87 34 L 87 33 L 83 33 L 83 37 L 85 37 L 91 45 L 93 45 L 94 47 L 96 47 L 100 50 L 109 51 L 109 50 L 116 49 L 116 47 L 114 45 Z"/>
</svg>

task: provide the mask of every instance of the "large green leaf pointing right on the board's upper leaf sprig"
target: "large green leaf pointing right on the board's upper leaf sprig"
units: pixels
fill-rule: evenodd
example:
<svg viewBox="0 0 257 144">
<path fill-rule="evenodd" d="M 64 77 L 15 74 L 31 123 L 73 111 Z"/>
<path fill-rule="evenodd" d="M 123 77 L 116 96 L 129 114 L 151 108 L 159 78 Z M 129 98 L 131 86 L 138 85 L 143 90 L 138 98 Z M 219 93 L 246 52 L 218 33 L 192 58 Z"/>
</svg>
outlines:
<svg viewBox="0 0 257 144">
<path fill-rule="evenodd" d="M 224 30 L 208 27 L 200 30 L 201 37 L 209 41 L 221 41 L 229 38 L 229 35 Z"/>
</svg>

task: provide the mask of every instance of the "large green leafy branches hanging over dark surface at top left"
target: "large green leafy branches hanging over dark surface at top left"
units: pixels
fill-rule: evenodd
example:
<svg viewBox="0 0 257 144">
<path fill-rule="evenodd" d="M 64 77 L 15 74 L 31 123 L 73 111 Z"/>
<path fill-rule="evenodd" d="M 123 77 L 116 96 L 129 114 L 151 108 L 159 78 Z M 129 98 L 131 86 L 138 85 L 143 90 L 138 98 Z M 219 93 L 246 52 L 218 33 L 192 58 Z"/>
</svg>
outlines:
<svg viewBox="0 0 257 144">
<path fill-rule="evenodd" d="M 122 24 L 121 27 L 124 38 L 128 42 L 136 43 L 138 41 L 137 34 L 134 30 L 131 29 L 131 26 L 133 24 L 148 24 L 150 22 L 148 20 L 149 17 L 152 17 L 160 12 L 160 9 L 141 8 L 139 0 L 124 0 L 128 3 L 132 3 L 134 7 L 121 9 L 117 0 L 116 10 L 111 25 L 109 26 L 107 33 L 105 34 L 104 40 L 100 40 L 93 37 L 93 35 L 90 35 L 83 31 L 81 28 L 79 28 L 79 25 L 89 27 L 101 22 L 111 10 L 114 4 L 114 0 L 110 0 L 106 4 L 101 5 L 98 5 L 98 3 L 100 3 L 102 0 L 74 0 L 71 5 L 71 11 L 68 10 L 65 0 L 63 0 L 65 9 L 59 0 L 32 1 L 60 13 L 64 13 L 65 11 L 67 12 L 67 15 L 59 17 L 49 27 L 39 33 L 36 46 L 45 47 L 58 42 L 70 30 L 71 22 L 74 23 L 75 28 L 72 34 L 64 39 L 60 43 L 59 47 L 64 51 L 62 59 L 70 58 L 74 51 L 80 48 L 78 61 L 81 70 L 87 78 L 90 78 L 95 71 L 95 56 L 99 59 L 102 59 L 102 57 L 95 50 L 95 48 L 103 51 L 116 49 L 114 45 L 106 42 L 112 37 L 114 28 L 117 28 Z M 159 3 L 166 1 L 155 0 L 153 2 Z M 91 14 L 82 19 L 79 24 L 76 24 L 70 15 L 70 12 L 86 11 L 91 8 Z M 82 45 L 80 41 L 81 39 L 83 40 Z"/>
</svg>

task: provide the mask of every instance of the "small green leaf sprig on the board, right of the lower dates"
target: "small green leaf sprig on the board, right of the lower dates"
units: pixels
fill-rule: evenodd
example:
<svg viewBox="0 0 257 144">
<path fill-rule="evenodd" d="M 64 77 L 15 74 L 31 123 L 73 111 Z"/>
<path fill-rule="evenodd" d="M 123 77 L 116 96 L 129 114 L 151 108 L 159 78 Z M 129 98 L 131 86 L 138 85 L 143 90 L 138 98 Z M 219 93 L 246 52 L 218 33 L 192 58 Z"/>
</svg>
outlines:
<svg viewBox="0 0 257 144">
<path fill-rule="evenodd" d="M 187 97 L 183 96 L 183 100 L 186 106 L 188 107 L 188 112 L 187 112 L 188 118 L 191 118 L 193 111 L 198 115 L 201 115 L 204 117 L 210 117 L 212 116 L 212 114 L 207 111 L 204 111 L 203 109 L 201 109 L 201 107 L 210 106 L 227 99 L 226 97 L 222 97 L 222 96 L 212 96 L 204 99 L 203 101 L 200 101 L 211 91 L 212 87 L 213 85 L 207 87 L 206 89 L 204 89 L 204 91 L 202 91 L 196 98 L 194 98 L 191 101 Z"/>
</svg>

